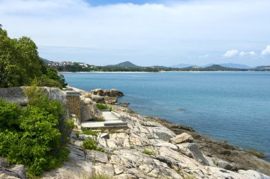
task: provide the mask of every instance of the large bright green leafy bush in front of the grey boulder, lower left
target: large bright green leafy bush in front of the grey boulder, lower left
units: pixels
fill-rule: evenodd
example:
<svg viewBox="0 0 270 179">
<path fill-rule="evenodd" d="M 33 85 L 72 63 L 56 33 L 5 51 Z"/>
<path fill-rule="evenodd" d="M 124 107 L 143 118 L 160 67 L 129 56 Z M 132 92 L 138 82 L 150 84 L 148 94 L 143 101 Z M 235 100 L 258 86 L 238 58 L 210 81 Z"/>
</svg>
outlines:
<svg viewBox="0 0 270 179">
<path fill-rule="evenodd" d="M 0 100 L 0 156 L 26 165 L 28 175 L 41 175 L 68 161 L 66 144 L 74 124 L 65 119 L 63 104 L 42 89 L 29 87 L 25 93 L 29 104 L 22 109 Z"/>
</svg>

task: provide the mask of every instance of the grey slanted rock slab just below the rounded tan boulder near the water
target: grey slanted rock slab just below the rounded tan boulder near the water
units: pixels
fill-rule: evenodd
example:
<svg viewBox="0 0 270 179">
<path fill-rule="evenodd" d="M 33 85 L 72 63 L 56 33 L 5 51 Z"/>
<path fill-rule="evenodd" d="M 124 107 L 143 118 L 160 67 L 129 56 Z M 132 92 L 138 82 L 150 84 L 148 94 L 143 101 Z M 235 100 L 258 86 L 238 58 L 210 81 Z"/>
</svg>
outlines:
<svg viewBox="0 0 270 179">
<path fill-rule="evenodd" d="M 193 158 L 204 166 L 209 166 L 207 159 L 203 156 L 196 143 L 183 143 L 192 153 Z"/>
</svg>

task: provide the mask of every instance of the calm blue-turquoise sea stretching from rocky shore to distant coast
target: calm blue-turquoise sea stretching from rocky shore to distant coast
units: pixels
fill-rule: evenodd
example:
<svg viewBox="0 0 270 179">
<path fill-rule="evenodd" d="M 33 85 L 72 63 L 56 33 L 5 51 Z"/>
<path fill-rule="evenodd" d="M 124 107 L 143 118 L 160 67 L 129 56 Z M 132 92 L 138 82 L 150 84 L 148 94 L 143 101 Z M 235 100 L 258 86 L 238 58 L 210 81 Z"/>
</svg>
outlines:
<svg viewBox="0 0 270 179">
<path fill-rule="evenodd" d="M 130 102 L 139 114 L 192 126 L 201 134 L 270 156 L 270 72 L 63 75 L 70 86 L 87 91 L 121 90 L 125 96 L 119 102 Z"/>
</svg>

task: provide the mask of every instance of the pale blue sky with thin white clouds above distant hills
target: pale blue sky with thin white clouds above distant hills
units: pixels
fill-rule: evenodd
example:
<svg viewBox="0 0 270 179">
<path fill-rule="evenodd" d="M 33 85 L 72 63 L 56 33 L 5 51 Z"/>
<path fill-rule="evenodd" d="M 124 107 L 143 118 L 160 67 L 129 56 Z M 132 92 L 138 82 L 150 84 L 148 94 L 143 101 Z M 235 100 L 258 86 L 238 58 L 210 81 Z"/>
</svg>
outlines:
<svg viewBox="0 0 270 179">
<path fill-rule="evenodd" d="M 53 61 L 254 67 L 270 65 L 269 9 L 269 0 L 0 0 L 0 23 Z"/>
</svg>

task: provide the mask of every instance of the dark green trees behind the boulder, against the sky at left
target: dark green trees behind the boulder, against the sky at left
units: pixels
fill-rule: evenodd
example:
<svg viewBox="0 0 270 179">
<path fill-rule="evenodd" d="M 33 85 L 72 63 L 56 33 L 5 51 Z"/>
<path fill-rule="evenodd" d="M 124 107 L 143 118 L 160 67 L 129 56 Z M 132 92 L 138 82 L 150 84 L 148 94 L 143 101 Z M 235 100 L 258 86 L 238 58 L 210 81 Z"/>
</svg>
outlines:
<svg viewBox="0 0 270 179">
<path fill-rule="evenodd" d="M 28 37 L 9 38 L 0 27 L 0 87 L 31 85 L 63 88 L 63 75 L 45 66 L 38 56 L 36 44 Z"/>
</svg>

